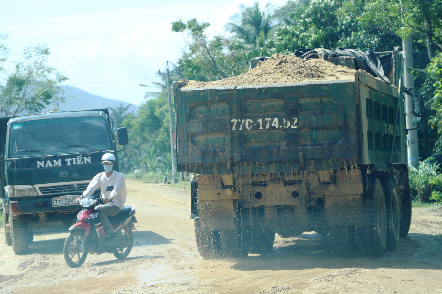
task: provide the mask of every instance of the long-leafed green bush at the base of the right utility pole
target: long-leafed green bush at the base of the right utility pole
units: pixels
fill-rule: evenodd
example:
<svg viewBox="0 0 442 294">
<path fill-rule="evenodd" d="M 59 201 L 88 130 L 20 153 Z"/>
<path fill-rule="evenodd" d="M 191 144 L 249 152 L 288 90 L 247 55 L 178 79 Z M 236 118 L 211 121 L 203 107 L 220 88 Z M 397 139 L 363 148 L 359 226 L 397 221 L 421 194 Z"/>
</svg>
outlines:
<svg viewBox="0 0 442 294">
<path fill-rule="evenodd" d="M 429 202 L 434 189 L 442 191 L 442 176 L 439 165 L 431 160 L 419 161 L 417 168 L 410 167 L 410 187 L 415 200 Z"/>
</svg>

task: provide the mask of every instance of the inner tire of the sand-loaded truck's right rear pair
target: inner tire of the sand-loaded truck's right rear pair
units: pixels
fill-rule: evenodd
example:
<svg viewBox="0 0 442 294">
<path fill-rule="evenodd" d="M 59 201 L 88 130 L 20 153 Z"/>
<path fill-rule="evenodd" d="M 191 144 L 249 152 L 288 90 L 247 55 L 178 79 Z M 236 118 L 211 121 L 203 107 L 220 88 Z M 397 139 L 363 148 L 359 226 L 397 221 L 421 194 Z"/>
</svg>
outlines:
<svg viewBox="0 0 442 294">
<path fill-rule="evenodd" d="M 335 256 L 343 257 L 355 255 L 354 227 L 330 227 L 330 239 Z"/>
</svg>

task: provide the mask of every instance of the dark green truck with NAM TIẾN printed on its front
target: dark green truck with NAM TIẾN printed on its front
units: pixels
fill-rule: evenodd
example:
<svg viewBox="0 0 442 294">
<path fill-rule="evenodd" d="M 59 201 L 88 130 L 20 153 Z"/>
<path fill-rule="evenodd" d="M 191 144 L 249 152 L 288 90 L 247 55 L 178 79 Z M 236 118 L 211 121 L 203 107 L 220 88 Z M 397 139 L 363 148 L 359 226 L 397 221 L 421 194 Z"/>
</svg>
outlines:
<svg viewBox="0 0 442 294">
<path fill-rule="evenodd" d="M 121 151 L 117 136 L 127 144 L 126 128 L 114 134 L 107 108 L 0 118 L 4 232 L 16 254 L 27 251 L 34 230 L 75 223 L 81 206 L 73 185 L 85 190 L 103 171 L 101 156 Z"/>
</svg>

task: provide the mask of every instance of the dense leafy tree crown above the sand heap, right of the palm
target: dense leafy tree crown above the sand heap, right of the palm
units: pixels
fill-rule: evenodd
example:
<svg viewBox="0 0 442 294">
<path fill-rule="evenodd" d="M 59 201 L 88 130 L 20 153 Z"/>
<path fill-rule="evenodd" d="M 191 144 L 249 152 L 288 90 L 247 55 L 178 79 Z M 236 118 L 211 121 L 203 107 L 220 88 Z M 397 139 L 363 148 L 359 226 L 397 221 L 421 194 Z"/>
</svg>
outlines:
<svg viewBox="0 0 442 294">
<path fill-rule="evenodd" d="M 271 53 L 291 54 L 298 48 L 391 50 L 400 44 L 396 36 L 379 28 L 373 29 L 359 20 L 364 11 L 363 1 L 311 0 L 308 5 L 305 1 L 302 3 L 286 12 L 284 25 L 279 26 L 267 41 Z"/>
</svg>

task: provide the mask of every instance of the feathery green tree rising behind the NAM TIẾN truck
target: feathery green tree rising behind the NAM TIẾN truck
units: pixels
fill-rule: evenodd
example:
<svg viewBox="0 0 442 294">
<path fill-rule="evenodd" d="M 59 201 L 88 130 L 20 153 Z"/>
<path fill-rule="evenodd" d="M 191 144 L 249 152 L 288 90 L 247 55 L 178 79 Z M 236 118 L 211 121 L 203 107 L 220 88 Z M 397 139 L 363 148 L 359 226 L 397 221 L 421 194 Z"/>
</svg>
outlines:
<svg viewBox="0 0 442 294">
<path fill-rule="evenodd" d="M 46 65 L 50 51 L 38 45 L 23 50 L 24 61 L 0 84 L 0 115 L 34 114 L 46 105 L 63 102 L 58 83 L 68 78 Z"/>
</svg>

